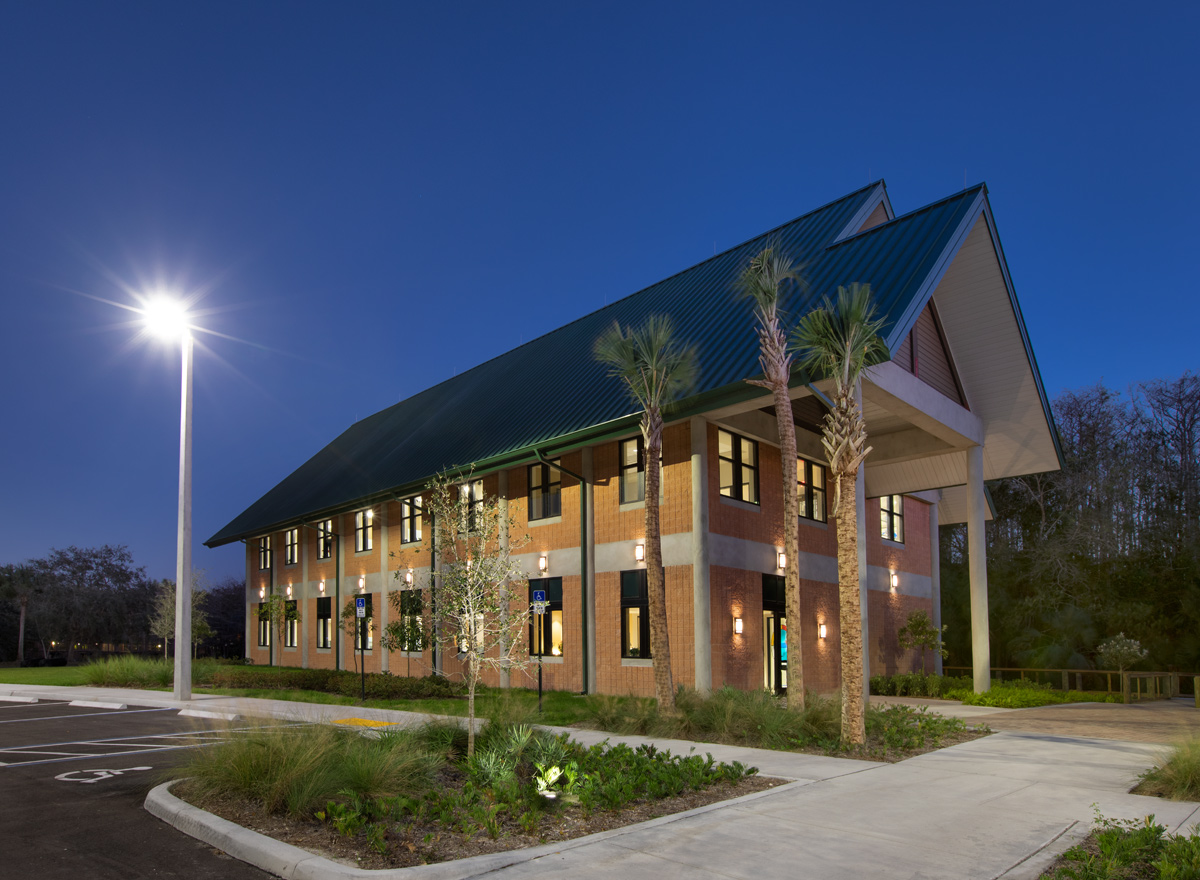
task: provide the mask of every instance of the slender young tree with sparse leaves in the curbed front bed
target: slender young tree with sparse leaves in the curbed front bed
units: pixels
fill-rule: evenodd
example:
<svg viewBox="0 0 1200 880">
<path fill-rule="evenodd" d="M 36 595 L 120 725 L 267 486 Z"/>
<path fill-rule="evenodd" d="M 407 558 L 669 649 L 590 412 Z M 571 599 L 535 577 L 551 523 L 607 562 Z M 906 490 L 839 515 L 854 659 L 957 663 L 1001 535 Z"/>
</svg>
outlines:
<svg viewBox="0 0 1200 880">
<path fill-rule="evenodd" d="M 470 485 L 438 477 L 425 497 L 432 520 L 430 541 L 438 561 L 431 574 L 432 631 L 448 653 L 462 662 L 467 683 L 467 755 L 475 754 L 475 690 L 485 666 L 524 666 L 529 646 L 529 605 L 523 591 L 524 573 L 512 553 L 528 543 L 515 538 L 512 522 L 494 497 L 473 498 Z M 509 540 L 500 540 L 508 528 Z"/>
</svg>

